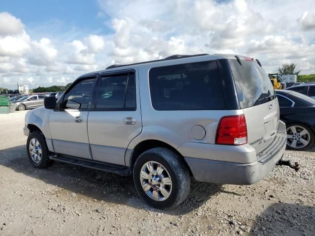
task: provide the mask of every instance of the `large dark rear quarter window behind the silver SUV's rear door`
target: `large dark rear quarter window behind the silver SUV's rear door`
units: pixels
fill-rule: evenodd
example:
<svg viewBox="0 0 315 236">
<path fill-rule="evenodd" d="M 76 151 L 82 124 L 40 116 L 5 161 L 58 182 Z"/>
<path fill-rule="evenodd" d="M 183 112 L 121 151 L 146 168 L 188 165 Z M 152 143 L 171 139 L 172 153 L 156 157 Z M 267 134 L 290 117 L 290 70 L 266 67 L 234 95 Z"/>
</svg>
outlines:
<svg viewBox="0 0 315 236">
<path fill-rule="evenodd" d="M 155 110 L 225 110 L 216 61 L 161 66 L 149 71 Z"/>
</svg>

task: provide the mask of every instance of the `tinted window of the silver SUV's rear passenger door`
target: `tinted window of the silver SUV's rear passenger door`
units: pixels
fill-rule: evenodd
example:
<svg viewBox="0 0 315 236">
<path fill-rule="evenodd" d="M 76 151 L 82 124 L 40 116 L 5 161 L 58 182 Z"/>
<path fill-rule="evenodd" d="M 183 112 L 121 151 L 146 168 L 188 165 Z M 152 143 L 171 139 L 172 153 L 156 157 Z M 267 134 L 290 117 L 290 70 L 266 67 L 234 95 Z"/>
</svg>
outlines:
<svg viewBox="0 0 315 236">
<path fill-rule="evenodd" d="M 126 94 L 126 100 L 125 100 Z M 135 109 L 134 73 L 102 77 L 96 97 L 96 109 Z"/>
</svg>

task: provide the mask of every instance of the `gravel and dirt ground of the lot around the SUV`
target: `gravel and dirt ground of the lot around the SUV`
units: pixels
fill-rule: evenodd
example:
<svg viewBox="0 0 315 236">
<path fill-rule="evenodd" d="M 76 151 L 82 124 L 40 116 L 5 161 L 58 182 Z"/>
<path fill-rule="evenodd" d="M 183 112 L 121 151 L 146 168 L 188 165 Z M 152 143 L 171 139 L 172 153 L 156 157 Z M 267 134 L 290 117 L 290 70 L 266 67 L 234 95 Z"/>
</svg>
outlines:
<svg viewBox="0 0 315 236">
<path fill-rule="evenodd" d="M 160 211 L 131 177 L 54 163 L 32 168 L 26 112 L 0 115 L 0 235 L 315 235 L 315 147 L 285 151 L 300 172 L 277 167 L 250 186 L 191 183 L 188 200 Z"/>
</svg>

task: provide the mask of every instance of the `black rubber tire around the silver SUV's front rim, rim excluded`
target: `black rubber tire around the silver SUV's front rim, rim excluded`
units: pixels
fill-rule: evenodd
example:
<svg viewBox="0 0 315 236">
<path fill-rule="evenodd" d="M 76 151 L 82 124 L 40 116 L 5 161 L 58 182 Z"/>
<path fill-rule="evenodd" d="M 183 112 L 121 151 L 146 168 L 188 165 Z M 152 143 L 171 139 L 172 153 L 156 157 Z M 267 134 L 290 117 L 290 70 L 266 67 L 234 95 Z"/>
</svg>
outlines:
<svg viewBox="0 0 315 236">
<path fill-rule="evenodd" d="M 30 142 L 31 142 L 32 138 L 37 139 L 37 141 L 39 142 L 40 147 L 41 147 L 41 160 L 38 163 L 35 163 L 32 160 L 32 157 L 31 157 L 31 154 L 30 154 L 29 147 L 30 147 Z M 28 137 L 28 140 L 27 140 L 26 149 L 27 149 L 29 160 L 30 160 L 30 162 L 31 162 L 33 167 L 41 169 L 41 168 L 45 168 L 45 167 L 48 166 L 49 157 L 48 157 L 47 144 L 46 144 L 44 136 L 39 131 L 33 131 L 32 133 L 29 134 L 29 137 Z"/>
</svg>

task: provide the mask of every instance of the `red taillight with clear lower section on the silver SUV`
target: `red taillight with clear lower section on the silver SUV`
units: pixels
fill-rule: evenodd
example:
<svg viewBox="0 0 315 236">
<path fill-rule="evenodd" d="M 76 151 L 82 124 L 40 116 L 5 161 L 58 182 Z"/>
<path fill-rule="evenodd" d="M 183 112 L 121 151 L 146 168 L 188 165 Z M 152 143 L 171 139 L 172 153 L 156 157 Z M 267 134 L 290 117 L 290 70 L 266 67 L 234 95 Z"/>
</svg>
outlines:
<svg viewBox="0 0 315 236">
<path fill-rule="evenodd" d="M 247 127 L 244 115 L 221 118 L 216 144 L 242 145 L 247 143 Z"/>
</svg>

